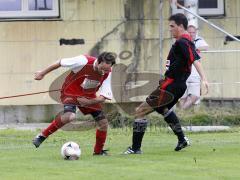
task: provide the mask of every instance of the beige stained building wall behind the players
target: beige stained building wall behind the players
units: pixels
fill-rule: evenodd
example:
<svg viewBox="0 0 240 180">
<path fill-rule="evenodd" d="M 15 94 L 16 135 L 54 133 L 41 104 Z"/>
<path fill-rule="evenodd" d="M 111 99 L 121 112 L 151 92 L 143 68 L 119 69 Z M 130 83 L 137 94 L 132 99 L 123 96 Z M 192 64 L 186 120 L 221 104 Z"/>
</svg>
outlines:
<svg viewBox="0 0 240 180">
<path fill-rule="evenodd" d="M 34 81 L 35 71 L 57 59 L 97 50 L 119 53 L 130 50 L 133 57 L 119 60 L 140 72 L 158 73 L 159 20 L 158 0 L 62 0 L 60 21 L 0 22 L 0 96 L 45 91 L 65 69 L 58 69 L 42 81 Z M 240 1 L 226 0 L 226 17 L 210 19 L 228 32 L 240 35 Z M 128 15 L 127 21 L 125 15 Z M 164 3 L 164 58 L 171 46 L 167 18 L 168 1 Z M 139 20 L 142 19 L 143 20 Z M 210 49 L 240 49 L 240 43 L 223 45 L 225 35 L 200 23 L 200 35 Z M 84 45 L 59 46 L 60 38 L 83 38 Z M 97 44 L 100 42 L 99 44 Z M 240 97 L 238 68 L 240 53 L 204 54 L 203 65 L 211 85 L 208 97 Z M 137 64 L 134 66 L 134 64 Z M 56 103 L 48 94 L 0 100 L 0 105 Z"/>
</svg>

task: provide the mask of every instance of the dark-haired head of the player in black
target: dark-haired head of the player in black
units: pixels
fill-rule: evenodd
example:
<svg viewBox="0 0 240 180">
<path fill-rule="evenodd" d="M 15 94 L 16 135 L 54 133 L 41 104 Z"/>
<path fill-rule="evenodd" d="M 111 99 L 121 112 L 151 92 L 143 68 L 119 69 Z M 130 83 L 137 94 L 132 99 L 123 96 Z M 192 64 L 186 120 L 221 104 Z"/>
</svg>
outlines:
<svg viewBox="0 0 240 180">
<path fill-rule="evenodd" d="M 177 13 L 170 16 L 169 27 L 174 38 L 179 38 L 187 30 L 188 20 L 184 14 Z"/>
</svg>

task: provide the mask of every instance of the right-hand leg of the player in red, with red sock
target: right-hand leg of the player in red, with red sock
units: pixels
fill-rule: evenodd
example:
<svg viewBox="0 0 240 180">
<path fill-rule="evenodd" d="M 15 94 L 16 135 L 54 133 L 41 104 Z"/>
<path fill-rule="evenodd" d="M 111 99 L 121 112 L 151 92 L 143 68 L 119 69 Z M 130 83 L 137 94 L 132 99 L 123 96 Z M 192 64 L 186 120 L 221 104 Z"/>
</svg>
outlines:
<svg viewBox="0 0 240 180">
<path fill-rule="evenodd" d="M 90 113 L 96 121 L 96 143 L 94 146 L 94 155 L 107 155 L 106 150 L 103 150 L 108 130 L 108 120 L 103 111 L 98 110 Z"/>
</svg>

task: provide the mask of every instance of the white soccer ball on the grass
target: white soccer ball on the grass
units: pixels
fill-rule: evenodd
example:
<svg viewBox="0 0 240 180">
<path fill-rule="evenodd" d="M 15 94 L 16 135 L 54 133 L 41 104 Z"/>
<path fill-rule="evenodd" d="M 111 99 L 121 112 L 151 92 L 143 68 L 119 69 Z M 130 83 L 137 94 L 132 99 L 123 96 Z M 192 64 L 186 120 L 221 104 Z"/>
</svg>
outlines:
<svg viewBox="0 0 240 180">
<path fill-rule="evenodd" d="M 65 160 L 77 160 L 81 155 L 81 149 L 75 142 L 67 142 L 61 148 L 61 155 Z"/>
</svg>

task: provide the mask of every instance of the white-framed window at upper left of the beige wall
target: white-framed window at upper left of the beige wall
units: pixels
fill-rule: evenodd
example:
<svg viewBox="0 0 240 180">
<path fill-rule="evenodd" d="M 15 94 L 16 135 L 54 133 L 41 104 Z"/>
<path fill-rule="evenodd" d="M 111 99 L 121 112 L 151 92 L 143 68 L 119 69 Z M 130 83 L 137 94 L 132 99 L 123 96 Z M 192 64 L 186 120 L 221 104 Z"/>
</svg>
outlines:
<svg viewBox="0 0 240 180">
<path fill-rule="evenodd" d="M 59 17 L 59 0 L 0 0 L 1 19 Z"/>
</svg>

